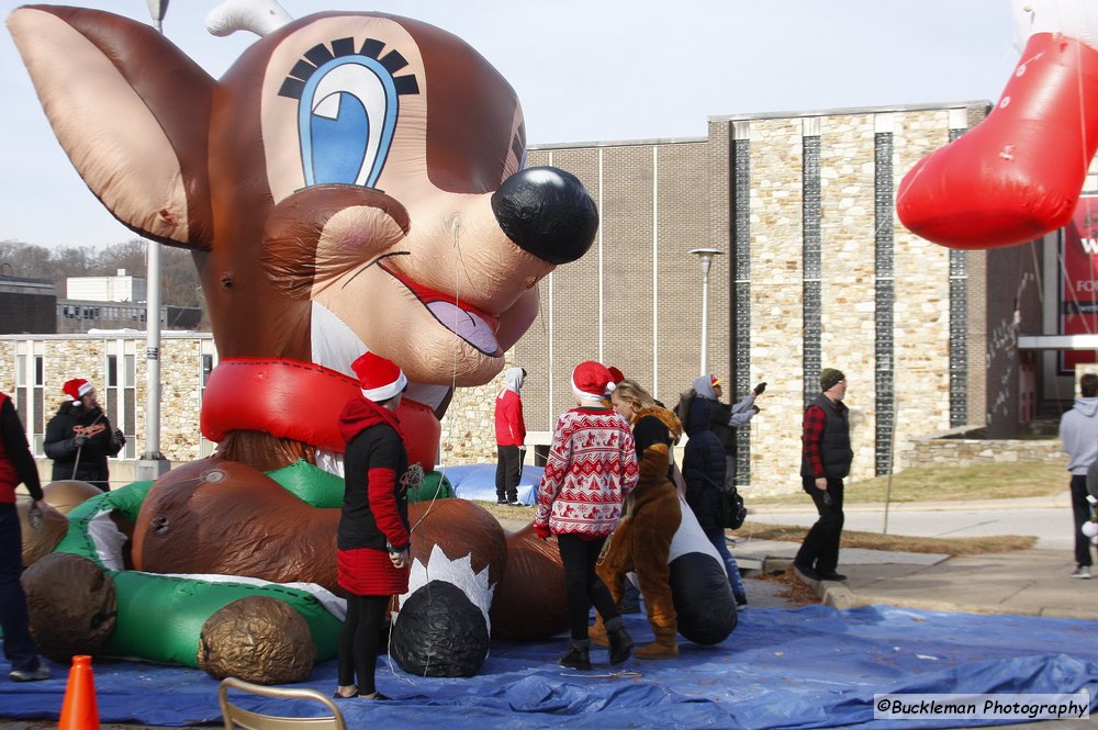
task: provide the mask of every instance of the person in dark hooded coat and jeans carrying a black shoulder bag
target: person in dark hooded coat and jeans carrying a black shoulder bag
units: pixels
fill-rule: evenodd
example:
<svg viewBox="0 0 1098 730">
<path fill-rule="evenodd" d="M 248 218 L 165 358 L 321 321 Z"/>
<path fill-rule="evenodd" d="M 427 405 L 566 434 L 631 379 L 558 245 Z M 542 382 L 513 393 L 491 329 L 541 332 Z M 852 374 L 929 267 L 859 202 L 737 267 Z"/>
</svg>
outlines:
<svg viewBox="0 0 1098 730">
<path fill-rule="evenodd" d="M 725 448 L 713 433 L 712 408 L 717 404 L 713 390 L 713 375 L 694 379 L 694 398 L 690 403 L 686 423 L 683 427 L 690 439 L 683 452 L 683 480 L 686 482 L 686 504 L 697 517 L 702 531 L 709 539 L 717 554 L 725 562 L 728 584 L 736 596 L 737 607 L 747 606 L 747 588 L 740 576 L 740 566 L 728 550 L 725 527 L 721 524 L 721 506 L 725 491 Z"/>
</svg>

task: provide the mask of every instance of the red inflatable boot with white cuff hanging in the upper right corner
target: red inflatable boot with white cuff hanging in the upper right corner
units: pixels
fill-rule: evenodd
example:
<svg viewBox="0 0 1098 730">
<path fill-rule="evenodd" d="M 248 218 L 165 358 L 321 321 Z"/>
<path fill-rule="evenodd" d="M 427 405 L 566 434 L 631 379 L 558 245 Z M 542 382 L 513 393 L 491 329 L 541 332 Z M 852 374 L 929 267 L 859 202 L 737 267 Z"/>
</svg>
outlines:
<svg viewBox="0 0 1098 730">
<path fill-rule="evenodd" d="M 914 233 L 952 248 L 1024 244 L 1066 225 L 1098 148 L 1098 11 L 1013 0 L 1022 49 L 999 103 L 921 159 L 896 201 Z"/>
</svg>

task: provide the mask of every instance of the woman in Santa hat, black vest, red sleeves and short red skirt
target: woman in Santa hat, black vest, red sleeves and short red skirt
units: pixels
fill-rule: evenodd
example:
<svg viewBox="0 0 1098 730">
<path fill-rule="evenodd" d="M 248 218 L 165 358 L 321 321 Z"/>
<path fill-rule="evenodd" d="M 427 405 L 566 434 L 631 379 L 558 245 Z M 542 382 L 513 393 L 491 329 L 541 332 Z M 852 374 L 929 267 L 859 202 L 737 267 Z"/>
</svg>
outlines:
<svg viewBox="0 0 1098 730">
<path fill-rule="evenodd" d="M 351 368 L 359 377 L 362 396 L 348 401 L 339 416 L 347 451 L 337 579 L 349 597 L 339 631 L 339 686 L 334 696 L 389 699 L 378 692 L 374 671 L 390 597 L 407 593 L 411 572 L 404 484 L 408 457 L 400 422 L 393 415 L 407 378 L 395 363 L 372 352 Z"/>
</svg>

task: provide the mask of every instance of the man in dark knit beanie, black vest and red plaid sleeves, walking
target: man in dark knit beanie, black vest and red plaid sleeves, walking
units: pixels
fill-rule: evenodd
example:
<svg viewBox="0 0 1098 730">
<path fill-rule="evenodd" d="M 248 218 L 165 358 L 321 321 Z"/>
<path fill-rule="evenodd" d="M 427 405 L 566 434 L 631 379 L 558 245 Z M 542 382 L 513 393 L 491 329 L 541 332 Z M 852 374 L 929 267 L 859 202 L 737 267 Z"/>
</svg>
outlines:
<svg viewBox="0 0 1098 730">
<path fill-rule="evenodd" d="M 800 457 L 802 486 L 816 505 L 816 520 L 800 544 L 793 569 L 808 582 L 845 581 L 836 571 L 842 537 L 842 480 L 850 473 L 854 452 L 850 448 L 850 408 L 847 377 L 841 370 L 820 372 L 820 394 L 805 411 L 804 448 Z"/>
</svg>

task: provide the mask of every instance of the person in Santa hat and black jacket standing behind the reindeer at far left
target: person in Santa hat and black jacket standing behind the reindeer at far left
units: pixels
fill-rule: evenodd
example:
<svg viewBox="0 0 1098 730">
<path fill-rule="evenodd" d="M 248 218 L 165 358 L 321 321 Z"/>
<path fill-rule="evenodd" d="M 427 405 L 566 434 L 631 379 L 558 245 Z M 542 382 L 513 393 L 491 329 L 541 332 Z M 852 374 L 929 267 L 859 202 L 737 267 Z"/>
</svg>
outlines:
<svg viewBox="0 0 1098 730">
<path fill-rule="evenodd" d="M 75 378 L 63 390 L 68 400 L 46 424 L 44 448 L 54 460 L 52 479 L 76 479 L 109 492 L 111 471 L 107 458 L 117 456 L 126 437 L 111 428 L 96 400 L 96 389 L 87 380 Z"/>
</svg>

